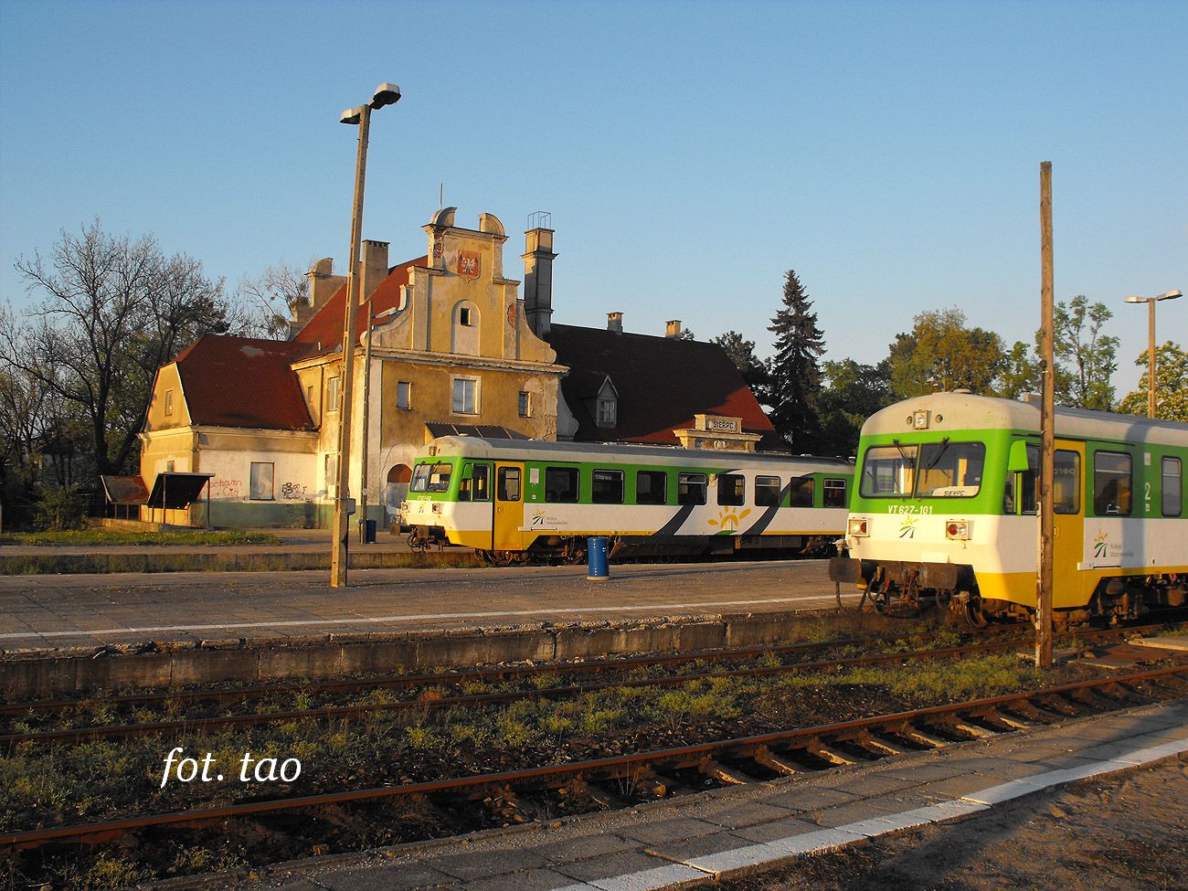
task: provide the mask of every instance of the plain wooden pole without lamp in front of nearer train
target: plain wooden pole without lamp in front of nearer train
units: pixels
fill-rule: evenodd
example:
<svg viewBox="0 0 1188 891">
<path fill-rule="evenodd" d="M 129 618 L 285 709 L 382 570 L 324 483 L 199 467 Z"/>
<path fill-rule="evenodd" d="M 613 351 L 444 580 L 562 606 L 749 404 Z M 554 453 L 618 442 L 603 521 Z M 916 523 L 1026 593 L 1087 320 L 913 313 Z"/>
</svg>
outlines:
<svg viewBox="0 0 1188 891">
<path fill-rule="evenodd" d="M 1041 330 L 1043 405 L 1040 410 L 1040 575 L 1036 580 L 1036 668 L 1051 666 L 1051 587 L 1055 545 L 1056 366 L 1055 308 L 1051 273 L 1051 162 L 1040 165 Z"/>
</svg>

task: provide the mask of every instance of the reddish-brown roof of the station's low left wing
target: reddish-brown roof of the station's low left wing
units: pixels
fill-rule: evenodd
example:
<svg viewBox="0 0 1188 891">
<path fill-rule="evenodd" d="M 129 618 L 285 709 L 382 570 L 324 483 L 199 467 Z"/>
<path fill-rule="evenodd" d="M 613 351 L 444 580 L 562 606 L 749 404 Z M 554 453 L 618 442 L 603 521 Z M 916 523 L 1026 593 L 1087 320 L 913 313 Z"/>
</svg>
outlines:
<svg viewBox="0 0 1188 891">
<path fill-rule="evenodd" d="M 175 360 L 194 424 L 311 430 L 290 364 L 304 343 L 207 334 Z"/>
</svg>

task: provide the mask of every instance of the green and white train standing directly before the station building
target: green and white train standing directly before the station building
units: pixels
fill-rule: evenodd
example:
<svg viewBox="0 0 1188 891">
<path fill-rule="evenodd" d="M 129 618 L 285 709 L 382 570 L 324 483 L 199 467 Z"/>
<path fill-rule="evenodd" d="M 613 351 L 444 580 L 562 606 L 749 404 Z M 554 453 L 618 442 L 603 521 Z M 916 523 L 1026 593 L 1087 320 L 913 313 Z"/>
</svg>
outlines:
<svg viewBox="0 0 1188 891">
<path fill-rule="evenodd" d="M 652 446 L 443 436 L 412 468 L 413 542 L 488 562 L 612 554 L 824 554 L 846 529 L 853 465 L 836 459 Z"/>
</svg>

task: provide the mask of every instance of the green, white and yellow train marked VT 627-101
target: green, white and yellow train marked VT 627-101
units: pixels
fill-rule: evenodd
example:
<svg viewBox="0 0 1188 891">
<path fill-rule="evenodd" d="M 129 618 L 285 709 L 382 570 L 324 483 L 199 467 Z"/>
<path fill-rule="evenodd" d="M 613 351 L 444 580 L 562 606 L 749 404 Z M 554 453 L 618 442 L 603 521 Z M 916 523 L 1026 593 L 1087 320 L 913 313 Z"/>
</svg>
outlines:
<svg viewBox="0 0 1188 891">
<path fill-rule="evenodd" d="M 1188 599 L 1188 424 L 1056 410 L 1057 619 Z M 949 602 L 975 625 L 1030 615 L 1040 565 L 1040 407 L 935 393 L 867 419 L 846 543 L 830 563 L 878 607 Z"/>
</svg>

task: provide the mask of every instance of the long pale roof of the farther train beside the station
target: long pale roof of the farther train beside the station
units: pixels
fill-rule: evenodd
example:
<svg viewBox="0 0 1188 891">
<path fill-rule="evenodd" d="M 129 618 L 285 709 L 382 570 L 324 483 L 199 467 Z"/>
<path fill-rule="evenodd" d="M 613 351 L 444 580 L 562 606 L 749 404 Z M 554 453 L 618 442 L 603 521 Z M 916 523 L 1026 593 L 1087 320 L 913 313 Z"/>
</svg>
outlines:
<svg viewBox="0 0 1188 891">
<path fill-rule="evenodd" d="M 663 446 L 632 446 L 626 443 L 552 442 L 549 440 L 486 440 L 480 436 L 438 436 L 423 455 L 434 448 L 436 455 L 466 455 L 492 460 L 529 461 L 619 461 L 623 463 L 666 463 L 680 460 L 689 467 L 778 467 L 792 473 L 821 470 L 853 472 L 854 463 L 840 457 L 811 455 L 781 455 L 762 451 L 725 449 L 682 449 Z"/>
</svg>

